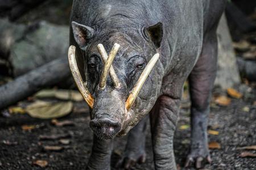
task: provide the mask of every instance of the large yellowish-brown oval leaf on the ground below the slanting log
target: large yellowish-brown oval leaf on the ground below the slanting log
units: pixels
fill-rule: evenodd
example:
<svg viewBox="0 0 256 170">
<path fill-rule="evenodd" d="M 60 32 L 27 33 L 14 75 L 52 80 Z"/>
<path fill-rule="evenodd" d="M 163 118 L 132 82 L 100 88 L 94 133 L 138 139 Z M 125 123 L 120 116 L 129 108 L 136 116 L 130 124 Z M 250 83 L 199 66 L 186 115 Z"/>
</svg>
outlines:
<svg viewBox="0 0 256 170">
<path fill-rule="evenodd" d="M 31 117 L 48 119 L 63 117 L 70 113 L 72 108 L 73 103 L 71 101 L 59 103 L 36 101 L 35 103 L 28 105 L 26 112 L 30 114 Z"/>
</svg>

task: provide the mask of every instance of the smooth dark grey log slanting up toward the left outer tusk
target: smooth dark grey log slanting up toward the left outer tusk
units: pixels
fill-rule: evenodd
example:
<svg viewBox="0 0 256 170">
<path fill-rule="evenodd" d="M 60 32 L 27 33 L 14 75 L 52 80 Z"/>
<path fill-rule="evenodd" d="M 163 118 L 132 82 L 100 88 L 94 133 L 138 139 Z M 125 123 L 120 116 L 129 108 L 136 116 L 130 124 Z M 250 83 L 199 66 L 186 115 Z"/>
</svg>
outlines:
<svg viewBox="0 0 256 170">
<path fill-rule="evenodd" d="M 0 86 L 0 109 L 71 77 L 68 59 L 58 58 Z"/>
</svg>

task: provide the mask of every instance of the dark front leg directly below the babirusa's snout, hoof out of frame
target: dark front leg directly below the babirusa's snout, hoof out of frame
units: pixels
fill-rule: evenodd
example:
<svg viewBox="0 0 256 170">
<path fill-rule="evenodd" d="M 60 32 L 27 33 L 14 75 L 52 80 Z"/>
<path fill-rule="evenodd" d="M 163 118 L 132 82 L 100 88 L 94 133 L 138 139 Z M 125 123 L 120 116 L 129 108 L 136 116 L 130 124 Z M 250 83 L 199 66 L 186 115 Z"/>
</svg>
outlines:
<svg viewBox="0 0 256 170">
<path fill-rule="evenodd" d="M 86 169 L 109 170 L 112 148 L 113 141 L 111 139 L 99 139 L 93 135 L 92 154 L 90 155 Z"/>
</svg>

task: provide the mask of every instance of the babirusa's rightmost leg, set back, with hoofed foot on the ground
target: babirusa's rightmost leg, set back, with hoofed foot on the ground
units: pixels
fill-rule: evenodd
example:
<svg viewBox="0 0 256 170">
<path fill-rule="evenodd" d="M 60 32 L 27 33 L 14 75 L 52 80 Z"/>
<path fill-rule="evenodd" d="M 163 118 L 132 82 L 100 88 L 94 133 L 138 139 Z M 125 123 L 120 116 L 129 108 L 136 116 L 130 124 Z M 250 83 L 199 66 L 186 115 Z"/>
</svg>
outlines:
<svg viewBox="0 0 256 170">
<path fill-rule="evenodd" d="M 205 36 L 203 51 L 191 74 L 189 90 L 191 94 L 191 148 L 186 167 L 201 168 L 210 163 L 207 125 L 209 103 L 217 69 L 217 37 L 215 31 Z"/>
</svg>

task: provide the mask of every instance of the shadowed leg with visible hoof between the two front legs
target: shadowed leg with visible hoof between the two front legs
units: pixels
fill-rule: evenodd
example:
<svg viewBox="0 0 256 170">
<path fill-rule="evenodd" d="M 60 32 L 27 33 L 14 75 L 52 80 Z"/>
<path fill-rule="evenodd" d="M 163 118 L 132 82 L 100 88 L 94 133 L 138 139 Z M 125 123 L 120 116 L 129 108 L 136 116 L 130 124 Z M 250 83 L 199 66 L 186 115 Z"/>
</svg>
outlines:
<svg viewBox="0 0 256 170">
<path fill-rule="evenodd" d="M 147 120 L 148 116 L 144 117 L 133 129 L 130 130 L 128 134 L 125 153 L 117 163 L 117 167 L 130 169 L 136 163 L 145 162 L 145 139 Z"/>
</svg>

